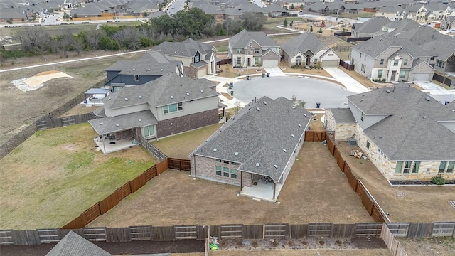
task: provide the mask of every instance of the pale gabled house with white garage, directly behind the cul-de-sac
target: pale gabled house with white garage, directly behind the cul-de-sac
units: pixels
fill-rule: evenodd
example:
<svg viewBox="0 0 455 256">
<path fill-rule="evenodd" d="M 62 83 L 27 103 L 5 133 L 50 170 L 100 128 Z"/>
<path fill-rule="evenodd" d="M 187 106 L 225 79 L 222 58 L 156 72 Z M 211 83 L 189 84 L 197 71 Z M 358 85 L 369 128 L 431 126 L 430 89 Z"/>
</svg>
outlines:
<svg viewBox="0 0 455 256">
<path fill-rule="evenodd" d="M 282 52 L 289 67 L 321 65 L 321 68 L 337 68 L 340 63 L 340 56 L 311 32 L 284 43 Z"/>
</svg>

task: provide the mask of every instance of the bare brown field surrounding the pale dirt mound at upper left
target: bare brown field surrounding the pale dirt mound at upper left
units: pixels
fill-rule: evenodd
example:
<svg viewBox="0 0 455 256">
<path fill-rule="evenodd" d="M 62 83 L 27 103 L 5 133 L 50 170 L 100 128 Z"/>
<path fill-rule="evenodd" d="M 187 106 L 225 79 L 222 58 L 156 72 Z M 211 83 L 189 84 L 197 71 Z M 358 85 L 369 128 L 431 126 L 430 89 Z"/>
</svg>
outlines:
<svg viewBox="0 0 455 256">
<path fill-rule="evenodd" d="M 117 60 L 139 58 L 141 55 L 142 53 L 137 53 L 1 73 L 0 143 L 6 142 L 16 132 L 19 132 L 14 129 L 36 121 L 81 92 L 104 81 L 106 79 L 105 68 L 112 63 Z M 28 92 L 23 92 L 11 84 L 13 80 L 28 78 L 50 70 L 63 71 L 73 78 L 55 78 L 45 82 L 40 89 Z"/>
</svg>

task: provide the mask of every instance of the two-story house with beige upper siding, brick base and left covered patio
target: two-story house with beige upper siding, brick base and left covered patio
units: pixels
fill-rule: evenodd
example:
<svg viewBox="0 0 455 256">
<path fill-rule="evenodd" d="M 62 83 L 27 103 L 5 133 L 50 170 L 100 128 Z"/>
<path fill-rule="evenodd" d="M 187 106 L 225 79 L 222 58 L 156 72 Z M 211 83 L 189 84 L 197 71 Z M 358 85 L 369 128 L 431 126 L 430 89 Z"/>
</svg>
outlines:
<svg viewBox="0 0 455 256">
<path fill-rule="evenodd" d="M 90 120 L 90 124 L 100 137 L 110 138 L 109 143 L 114 144 L 123 139 L 167 137 L 217 124 L 218 92 L 214 87 L 213 82 L 205 79 L 168 73 L 103 98 L 103 107 L 94 112 L 100 118 Z M 96 138 L 95 142 L 100 144 Z M 104 146 L 100 147 L 108 153 Z"/>
</svg>

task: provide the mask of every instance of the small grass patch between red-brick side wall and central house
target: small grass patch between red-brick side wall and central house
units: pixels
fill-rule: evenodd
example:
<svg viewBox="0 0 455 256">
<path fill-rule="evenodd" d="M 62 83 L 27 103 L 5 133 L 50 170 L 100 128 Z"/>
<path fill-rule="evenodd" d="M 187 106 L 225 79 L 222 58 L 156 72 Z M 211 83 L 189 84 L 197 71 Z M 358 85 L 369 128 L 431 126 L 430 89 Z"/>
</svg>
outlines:
<svg viewBox="0 0 455 256">
<path fill-rule="evenodd" d="M 154 144 L 154 146 L 168 157 L 188 159 L 188 155 L 220 128 L 221 125 L 222 124 L 213 124 L 190 132 L 183 132 L 171 137 L 159 139 L 151 142 L 151 144 Z"/>
</svg>

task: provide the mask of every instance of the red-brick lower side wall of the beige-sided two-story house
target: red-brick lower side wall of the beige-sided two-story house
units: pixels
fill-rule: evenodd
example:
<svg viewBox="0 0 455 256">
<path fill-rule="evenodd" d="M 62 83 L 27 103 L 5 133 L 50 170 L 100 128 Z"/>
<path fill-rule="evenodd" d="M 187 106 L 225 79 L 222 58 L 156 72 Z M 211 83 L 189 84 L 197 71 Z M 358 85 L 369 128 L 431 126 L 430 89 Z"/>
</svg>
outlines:
<svg viewBox="0 0 455 256">
<path fill-rule="evenodd" d="M 218 124 L 218 109 L 206 110 L 183 117 L 176 117 L 159 121 L 156 124 L 157 137 L 166 137 L 180 132 L 205 127 L 210 124 Z"/>
</svg>

